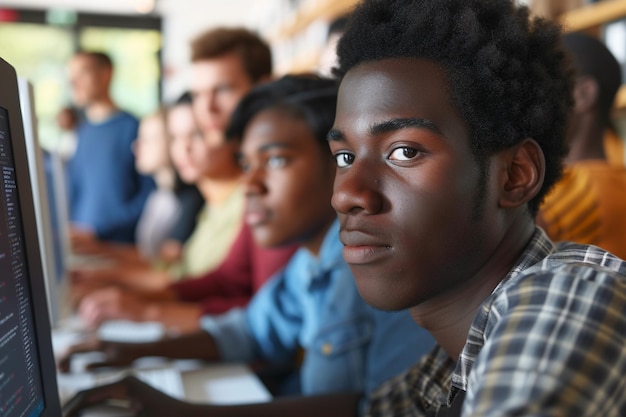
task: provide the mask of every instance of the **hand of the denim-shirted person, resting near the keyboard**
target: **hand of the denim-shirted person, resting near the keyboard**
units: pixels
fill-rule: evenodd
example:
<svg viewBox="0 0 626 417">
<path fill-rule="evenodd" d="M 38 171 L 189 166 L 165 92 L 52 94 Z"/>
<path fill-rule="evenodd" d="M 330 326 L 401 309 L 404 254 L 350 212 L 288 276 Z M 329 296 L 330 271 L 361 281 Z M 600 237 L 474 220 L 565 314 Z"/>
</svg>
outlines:
<svg viewBox="0 0 626 417">
<path fill-rule="evenodd" d="M 72 358 L 78 354 L 87 352 L 102 352 L 104 358 L 86 364 L 86 370 L 110 366 L 128 366 L 135 359 L 146 355 L 146 352 L 144 352 L 145 348 L 145 343 L 109 342 L 93 338 L 70 346 L 67 351 L 59 357 L 57 368 L 61 372 L 70 372 Z"/>
</svg>

